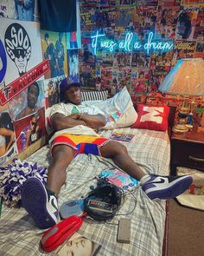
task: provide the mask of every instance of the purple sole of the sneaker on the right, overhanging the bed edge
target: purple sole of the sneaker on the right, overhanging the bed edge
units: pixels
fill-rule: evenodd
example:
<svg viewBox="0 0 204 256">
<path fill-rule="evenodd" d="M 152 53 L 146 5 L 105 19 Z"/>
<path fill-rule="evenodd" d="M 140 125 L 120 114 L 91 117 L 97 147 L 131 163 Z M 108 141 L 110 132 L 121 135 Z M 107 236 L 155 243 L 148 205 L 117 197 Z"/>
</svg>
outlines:
<svg viewBox="0 0 204 256">
<path fill-rule="evenodd" d="M 149 192 L 147 195 L 148 197 L 150 197 L 151 200 L 154 200 L 154 199 L 167 200 L 169 198 L 175 198 L 179 194 L 182 194 L 183 192 L 185 192 L 190 187 L 192 182 L 193 182 L 193 178 L 188 176 L 188 177 L 185 177 L 185 179 L 177 181 L 175 184 L 173 184 L 170 187 L 166 187 L 162 189 L 158 188 L 155 191 Z"/>
</svg>

